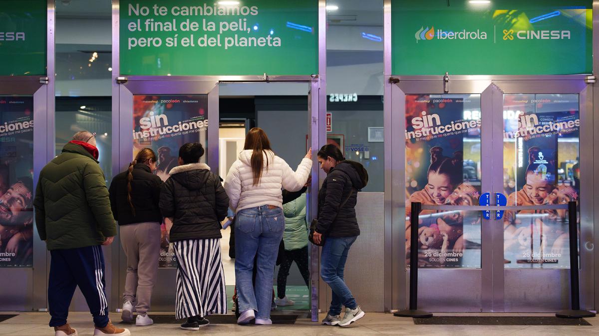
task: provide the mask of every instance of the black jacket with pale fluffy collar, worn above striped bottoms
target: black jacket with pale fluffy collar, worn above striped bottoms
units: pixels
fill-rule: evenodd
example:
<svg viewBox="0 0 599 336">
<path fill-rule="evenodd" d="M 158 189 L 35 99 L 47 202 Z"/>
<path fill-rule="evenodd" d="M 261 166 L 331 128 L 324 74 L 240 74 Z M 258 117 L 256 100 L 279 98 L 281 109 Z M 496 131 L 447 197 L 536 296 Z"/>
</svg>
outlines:
<svg viewBox="0 0 599 336">
<path fill-rule="evenodd" d="M 171 170 L 160 194 L 160 210 L 173 218 L 171 242 L 221 238 L 229 197 L 219 177 L 204 163 L 184 164 Z"/>
</svg>

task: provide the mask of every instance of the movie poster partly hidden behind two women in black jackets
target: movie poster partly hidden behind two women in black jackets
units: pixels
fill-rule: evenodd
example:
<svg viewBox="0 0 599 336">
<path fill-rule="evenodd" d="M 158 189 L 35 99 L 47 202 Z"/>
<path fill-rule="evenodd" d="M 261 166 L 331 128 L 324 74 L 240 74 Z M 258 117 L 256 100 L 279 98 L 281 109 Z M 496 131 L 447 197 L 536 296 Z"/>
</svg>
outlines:
<svg viewBox="0 0 599 336">
<path fill-rule="evenodd" d="M 187 142 L 199 142 L 207 148 L 208 96 L 162 95 L 134 96 L 133 103 L 133 157 L 145 147 L 158 155 L 156 175 L 162 181 L 178 165 L 179 147 Z M 205 163 L 206 155 L 201 162 Z M 172 222 L 161 224 L 161 252 L 159 267 L 177 267 L 173 244 L 168 238 Z"/>
</svg>

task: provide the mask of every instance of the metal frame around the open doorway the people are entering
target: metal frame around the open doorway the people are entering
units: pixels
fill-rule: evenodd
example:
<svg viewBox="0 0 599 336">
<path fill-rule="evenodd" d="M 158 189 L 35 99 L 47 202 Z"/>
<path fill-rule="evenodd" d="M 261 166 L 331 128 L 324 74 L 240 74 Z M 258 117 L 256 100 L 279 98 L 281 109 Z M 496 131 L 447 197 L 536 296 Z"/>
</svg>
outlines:
<svg viewBox="0 0 599 336">
<path fill-rule="evenodd" d="M 207 94 L 208 95 L 208 120 L 211 121 L 212 127 L 208 127 L 208 139 L 207 139 L 207 164 L 213 171 L 218 172 L 219 170 L 219 84 L 220 83 L 264 83 L 260 77 L 245 77 L 246 80 L 241 80 L 240 77 L 236 77 L 236 80 L 231 80 L 231 77 L 202 77 L 200 78 L 189 78 L 189 77 L 127 77 L 119 78 L 119 109 L 113 112 L 113 174 L 123 171 L 129 162 L 132 160 L 132 148 L 133 139 L 131 136 L 131 130 L 133 129 L 133 96 L 138 94 Z M 277 77 L 275 80 L 269 80 L 268 83 L 305 83 L 308 85 L 308 113 L 311 115 L 310 125 L 310 139 L 308 141 L 314 145 L 318 143 L 318 137 L 312 136 L 314 127 L 319 127 L 317 120 L 314 120 L 314 113 L 319 112 L 319 78 L 317 76 L 304 76 L 304 77 Z M 216 120 L 216 121 L 215 121 Z M 312 172 L 314 173 L 314 166 L 318 169 L 317 164 L 313 164 Z M 314 179 L 316 180 L 316 179 Z M 318 181 L 313 180 L 311 190 L 317 190 Z M 314 188 L 316 184 L 316 188 Z M 316 216 L 316 212 L 313 210 L 313 203 L 317 200 L 313 200 L 314 197 L 310 198 L 310 206 L 308 212 L 312 216 Z M 317 204 L 317 203 L 316 203 Z M 314 255 L 318 255 L 317 249 L 312 249 L 311 258 L 314 259 Z M 113 286 L 111 296 L 114 303 L 120 302 L 120 294 L 123 292 L 123 285 L 126 277 L 126 257 L 125 253 L 122 253 L 120 248 L 120 241 L 118 244 L 114 244 L 111 248 L 111 253 L 118 256 L 118 266 L 114 265 L 111 268 L 113 270 L 112 278 Z M 316 253 L 316 254 L 314 254 Z M 107 260 L 114 260 L 115 258 L 107 257 Z M 317 259 L 316 259 L 317 262 Z M 317 264 L 316 264 L 317 265 Z M 311 270 L 317 270 L 311 262 Z M 173 268 L 159 268 L 159 273 L 171 273 L 170 276 L 158 276 L 156 282 L 156 288 L 173 288 L 174 279 Z M 318 272 L 316 271 L 317 280 Z M 118 285 L 114 285 L 117 283 Z M 160 291 L 154 291 L 153 294 L 153 308 L 158 311 L 170 311 L 172 306 L 172 296 L 168 293 L 164 298 Z M 157 297 L 158 296 L 158 297 Z M 312 301 L 312 304 L 317 303 L 317 287 L 313 287 L 312 298 L 316 300 Z M 313 309 L 314 311 L 314 309 Z"/>
</svg>

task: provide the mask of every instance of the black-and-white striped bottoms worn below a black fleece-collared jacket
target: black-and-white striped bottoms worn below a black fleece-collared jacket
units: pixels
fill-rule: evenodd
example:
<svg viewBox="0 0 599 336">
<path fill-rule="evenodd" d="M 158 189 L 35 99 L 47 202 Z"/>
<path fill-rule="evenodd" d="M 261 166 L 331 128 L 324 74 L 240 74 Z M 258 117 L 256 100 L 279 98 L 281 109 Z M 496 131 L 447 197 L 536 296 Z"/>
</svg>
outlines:
<svg viewBox="0 0 599 336">
<path fill-rule="evenodd" d="M 174 242 L 177 267 L 177 319 L 226 314 L 225 274 L 219 239 Z"/>
</svg>

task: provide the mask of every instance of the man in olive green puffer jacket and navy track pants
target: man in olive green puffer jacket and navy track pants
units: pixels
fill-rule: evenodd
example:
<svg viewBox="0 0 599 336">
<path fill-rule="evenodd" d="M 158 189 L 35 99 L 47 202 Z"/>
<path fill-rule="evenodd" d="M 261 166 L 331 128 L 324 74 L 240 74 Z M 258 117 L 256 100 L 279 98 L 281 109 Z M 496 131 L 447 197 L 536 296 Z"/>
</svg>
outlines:
<svg viewBox="0 0 599 336">
<path fill-rule="evenodd" d="M 98 165 L 95 134 L 77 132 L 62 153 L 41 170 L 34 200 L 41 240 L 50 250 L 50 326 L 74 335 L 66 323 L 75 288 L 81 289 L 96 330 L 94 335 L 129 335 L 108 319 L 101 245 L 110 245 L 116 223 L 104 173 Z M 62 335 L 62 334 L 61 334 Z"/>
</svg>

